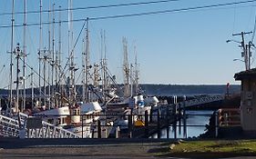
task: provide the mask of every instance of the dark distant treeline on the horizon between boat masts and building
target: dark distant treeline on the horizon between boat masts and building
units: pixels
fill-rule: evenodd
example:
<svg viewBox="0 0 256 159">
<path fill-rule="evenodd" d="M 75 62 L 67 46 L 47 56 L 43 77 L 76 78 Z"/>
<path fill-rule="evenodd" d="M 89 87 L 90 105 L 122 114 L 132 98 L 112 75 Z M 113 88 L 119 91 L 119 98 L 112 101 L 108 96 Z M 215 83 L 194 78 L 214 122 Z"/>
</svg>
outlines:
<svg viewBox="0 0 256 159">
<path fill-rule="evenodd" d="M 140 84 L 148 95 L 226 94 L 226 84 Z M 230 84 L 229 94 L 239 94 L 241 85 Z"/>
</svg>

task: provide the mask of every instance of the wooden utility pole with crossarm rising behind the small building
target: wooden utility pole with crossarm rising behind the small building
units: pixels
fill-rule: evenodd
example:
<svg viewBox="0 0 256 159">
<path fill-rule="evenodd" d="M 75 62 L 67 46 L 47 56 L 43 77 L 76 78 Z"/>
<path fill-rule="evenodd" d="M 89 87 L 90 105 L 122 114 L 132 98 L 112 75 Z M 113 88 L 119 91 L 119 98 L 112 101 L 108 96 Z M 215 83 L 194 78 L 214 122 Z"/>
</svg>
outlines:
<svg viewBox="0 0 256 159">
<path fill-rule="evenodd" d="M 245 45 L 244 35 L 249 35 L 251 33 L 252 32 L 241 32 L 240 34 L 233 34 L 233 36 L 241 35 L 241 47 L 242 47 L 241 57 L 244 58 L 244 64 L 245 64 L 246 71 L 251 69 L 251 53 L 250 53 L 251 42 L 249 42 L 249 45 Z"/>
</svg>

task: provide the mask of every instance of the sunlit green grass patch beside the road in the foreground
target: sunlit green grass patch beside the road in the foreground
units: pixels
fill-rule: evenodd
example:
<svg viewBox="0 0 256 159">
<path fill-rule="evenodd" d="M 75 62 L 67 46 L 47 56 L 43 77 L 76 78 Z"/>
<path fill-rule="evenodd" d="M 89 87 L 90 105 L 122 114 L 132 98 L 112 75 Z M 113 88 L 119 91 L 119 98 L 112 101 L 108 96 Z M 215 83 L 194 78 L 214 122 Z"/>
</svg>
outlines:
<svg viewBox="0 0 256 159">
<path fill-rule="evenodd" d="M 157 155 L 189 158 L 222 158 L 256 155 L 256 140 L 185 141 L 176 144 L 172 148 L 169 148 L 169 146 L 155 153 Z"/>
</svg>

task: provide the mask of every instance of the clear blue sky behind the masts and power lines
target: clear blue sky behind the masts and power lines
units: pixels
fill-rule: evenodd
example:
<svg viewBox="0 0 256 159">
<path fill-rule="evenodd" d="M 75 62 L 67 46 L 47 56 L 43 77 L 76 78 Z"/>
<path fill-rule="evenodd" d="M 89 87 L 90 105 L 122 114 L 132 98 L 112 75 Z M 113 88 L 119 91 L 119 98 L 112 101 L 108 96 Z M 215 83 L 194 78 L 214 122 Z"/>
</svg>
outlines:
<svg viewBox="0 0 256 159">
<path fill-rule="evenodd" d="M 101 5 L 120 5 L 145 3 L 154 0 L 73 0 L 73 8 Z M 155 0 L 158 1 L 158 0 Z M 154 2 L 155 2 L 154 1 Z M 160 1 L 160 0 L 159 0 Z M 186 9 L 208 5 L 223 5 L 244 2 L 246 0 L 173 0 L 148 5 L 128 5 L 97 9 L 80 9 L 73 11 L 73 19 L 94 19 L 109 15 L 129 15 L 157 12 L 165 10 Z M 12 11 L 11 0 L 1 0 L 0 4 L 0 75 L 4 78 L 1 87 L 8 83 Z M 67 9 L 67 0 L 43 0 L 43 10 L 55 4 Z M 24 1 L 15 1 L 15 12 L 24 11 Z M 27 0 L 27 11 L 39 11 L 39 0 Z M 229 43 L 228 39 L 241 42 L 241 36 L 232 36 L 241 32 L 251 32 L 254 28 L 256 1 L 241 5 L 225 5 L 197 10 L 171 12 L 156 15 L 139 15 L 124 18 L 89 20 L 90 62 L 98 63 L 101 57 L 102 30 L 106 33 L 106 54 L 108 69 L 116 75 L 118 82 L 123 82 L 122 38 L 128 39 L 128 60 L 135 61 L 138 55 L 139 83 L 141 84 L 240 84 L 233 75 L 245 70 L 244 63 L 233 61 L 241 58 L 238 43 Z M 67 10 L 60 12 L 61 20 L 67 21 Z M 23 24 L 23 15 L 15 14 L 15 24 Z M 43 22 L 47 22 L 47 13 L 43 14 Z M 56 21 L 59 12 L 56 12 Z M 39 14 L 27 14 L 27 24 L 39 23 Z M 85 39 L 84 21 L 74 22 L 75 62 L 82 70 L 82 41 Z M 53 26 L 51 26 L 53 27 Z M 67 32 L 68 24 L 61 24 L 62 65 L 68 57 Z M 43 25 L 43 47 L 48 47 L 48 25 Z M 82 32 L 81 32 L 82 31 Z M 79 36 L 79 33 L 81 35 Z M 56 50 L 58 50 L 58 25 L 55 25 Z M 14 42 L 23 47 L 23 27 L 15 27 Z M 248 43 L 251 35 L 245 35 Z M 30 25 L 26 29 L 27 63 L 38 70 L 39 25 Z M 135 48 L 136 47 L 136 51 Z M 255 50 L 252 50 L 251 67 L 255 67 Z M 5 65 L 5 66 L 4 66 Z M 29 74 L 27 70 L 27 75 Z M 36 77 L 35 77 L 36 78 Z M 77 82 L 81 82 L 77 78 Z"/>
</svg>

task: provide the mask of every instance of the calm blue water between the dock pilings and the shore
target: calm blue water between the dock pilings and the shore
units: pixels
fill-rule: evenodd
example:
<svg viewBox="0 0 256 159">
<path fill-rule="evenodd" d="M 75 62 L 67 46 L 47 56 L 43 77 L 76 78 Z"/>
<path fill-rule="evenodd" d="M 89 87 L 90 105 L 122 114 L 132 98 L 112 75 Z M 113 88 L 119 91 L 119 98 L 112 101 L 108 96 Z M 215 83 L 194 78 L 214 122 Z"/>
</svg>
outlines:
<svg viewBox="0 0 256 159">
<path fill-rule="evenodd" d="M 186 138 L 186 137 L 197 137 L 200 134 L 205 133 L 205 124 L 209 124 L 210 114 L 213 114 L 213 111 L 187 111 L 186 114 L 188 118 L 186 120 L 187 130 L 184 130 L 184 124 L 181 121 L 179 126 L 179 122 L 177 123 L 177 138 Z M 200 115 L 199 115 L 200 114 Z M 193 126 L 189 126 L 193 125 Z M 195 126 L 200 125 L 200 126 Z M 186 132 L 186 134 L 184 134 Z M 174 138 L 175 131 L 173 126 L 169 126 L 169 138 Z M 153 138 L 157 138 L 158 134 L 154 134 Z M 167 138 L 167 129 L 161 130 L 161 138 Z"/>
</svg>

